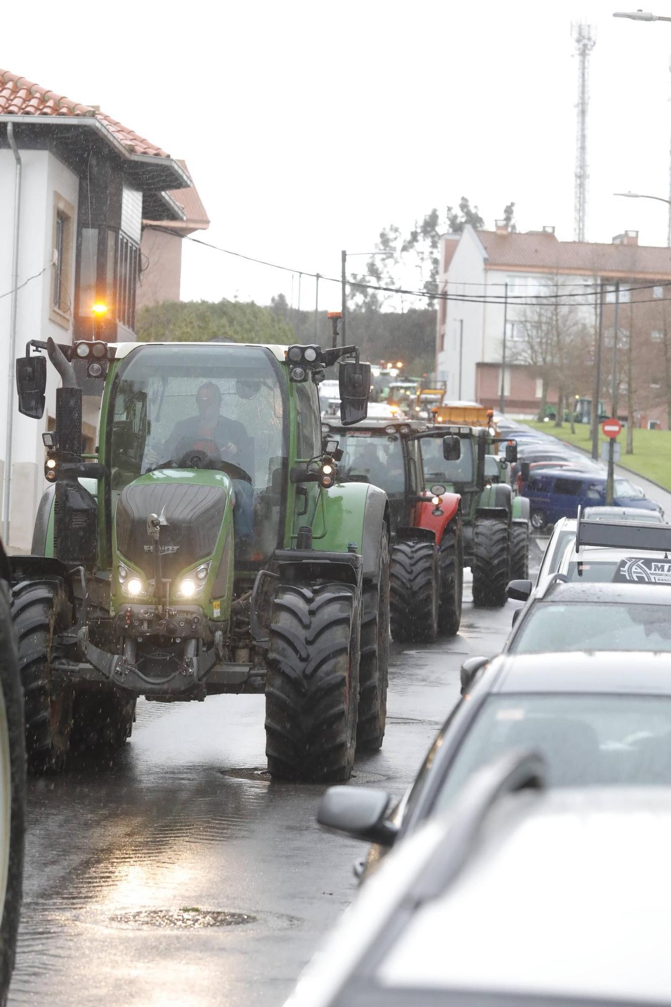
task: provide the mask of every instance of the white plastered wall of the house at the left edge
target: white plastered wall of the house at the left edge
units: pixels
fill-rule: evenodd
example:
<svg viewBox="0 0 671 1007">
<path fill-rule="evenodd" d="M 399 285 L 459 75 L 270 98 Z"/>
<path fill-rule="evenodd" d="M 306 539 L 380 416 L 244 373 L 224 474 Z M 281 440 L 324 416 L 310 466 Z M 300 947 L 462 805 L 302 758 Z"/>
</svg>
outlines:
<svg viewBox="0 0 671 1007">
<path fill-rule="evenodd" d="M 29 280 L 18 291 L 17 330 L 15 354 L 25 351 L 29 339 L 46 339 L 49 335 L 59 342 L 72 341 L 72 312 L 61 312 L 61 324 L 50 315 L 52 297 L 53 217 L 54 196 L 59 194 L 74 207 L 73 234 L 77 227 L 79 178 L 53 154 L 43 150 L 20 150 L 22 160 L 20 233 L 19 233 L 19 285 Z M 15 161 L 11 150 L 0 150 L 0 295 L 12 287 L 12 247 L 14 217 Z M 71 254 L 75 255 L 75 243 Z M 70 292 L 65 302 L 72 305 L 75 297 L 75 269 L 70 270 Z M 10 551 L 29 551 L 34 516 L 44 488 L 42 431 L 48 416 L 55 409 L 56 376 L 47 369 L 46 409 L 41 421 L 21 416 L 16 408 L 14 387 L 14 361 L 10 340 L 11 297 L 0 298 L 0 359 L 5 366 L 0 373 L 0 463 L 2 465 L 2 492 L 4 495 L 4 470 L 7 437 L 7 402 L 9 377 L 12 384 L 13 429 L 12 471 L 10 488 L 10 534 L 7 543 Z M 2 505 L 0 502 L 0 513 Z"/>
</svg>

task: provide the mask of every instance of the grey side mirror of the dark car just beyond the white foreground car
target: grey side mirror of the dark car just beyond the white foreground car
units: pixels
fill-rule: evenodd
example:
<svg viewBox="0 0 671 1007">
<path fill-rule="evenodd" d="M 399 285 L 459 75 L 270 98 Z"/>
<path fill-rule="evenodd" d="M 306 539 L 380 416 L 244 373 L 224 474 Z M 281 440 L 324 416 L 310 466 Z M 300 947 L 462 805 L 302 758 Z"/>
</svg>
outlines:
<svg viewBox="0 0 671 1007">
<path fill-rule="evenodd" d="M 317 808 L 322 829 L 391 846 L 398 828 L 386 819 L 391 797 L 370 786 L 329 786 Z"/>
</svg>

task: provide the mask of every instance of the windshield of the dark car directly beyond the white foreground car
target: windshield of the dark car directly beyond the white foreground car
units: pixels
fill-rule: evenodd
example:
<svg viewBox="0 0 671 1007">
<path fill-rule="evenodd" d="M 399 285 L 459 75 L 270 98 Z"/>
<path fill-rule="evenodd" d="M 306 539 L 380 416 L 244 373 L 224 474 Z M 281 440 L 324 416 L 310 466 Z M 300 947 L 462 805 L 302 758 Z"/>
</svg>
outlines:
<svg viewBox="0 0 671 1007">
<path fill-rule="evenodd" d="M 551 786 L 668 785 L 671 698 L 491 696 L 452 759 L 433 811 L 445 809 L 471 773 L 511 748 L 540 752 Z"/>
</svg>

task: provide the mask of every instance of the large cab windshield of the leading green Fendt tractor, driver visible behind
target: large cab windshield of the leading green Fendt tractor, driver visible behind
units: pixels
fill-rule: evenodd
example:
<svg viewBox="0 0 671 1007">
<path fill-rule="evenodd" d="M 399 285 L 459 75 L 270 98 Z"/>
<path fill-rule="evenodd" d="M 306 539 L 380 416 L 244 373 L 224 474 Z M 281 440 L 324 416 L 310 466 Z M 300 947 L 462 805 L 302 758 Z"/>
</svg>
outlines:
<svg viewBox="0 0 671 1007">
<path fill-rule="evenodd" d="M 269 350 L 235 343 L 139 347 L 122 364 L 108 416 L 113 503 L 152 469 L 221 469 L 247 499 L 243 544 L 250 558 L 277 548 L 284 395 Z"/>
</svg>

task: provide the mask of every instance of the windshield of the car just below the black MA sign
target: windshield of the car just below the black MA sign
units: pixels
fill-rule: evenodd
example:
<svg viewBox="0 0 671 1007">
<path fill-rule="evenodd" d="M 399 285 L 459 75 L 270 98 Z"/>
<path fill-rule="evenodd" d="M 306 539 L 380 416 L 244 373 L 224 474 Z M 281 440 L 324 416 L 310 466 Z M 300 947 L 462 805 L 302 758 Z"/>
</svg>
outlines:
<svg viewBox="0 0 671 1007">
<path fill-rule="evenodd" d="M 671 602 L 671 597 L 669 598 Z M 671 651 L 671 607 L 620 602 L 539 601 L 511 641 L 516 654 Z"/>
</svg>

